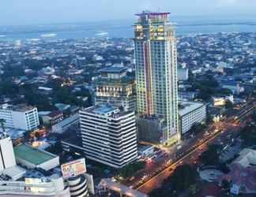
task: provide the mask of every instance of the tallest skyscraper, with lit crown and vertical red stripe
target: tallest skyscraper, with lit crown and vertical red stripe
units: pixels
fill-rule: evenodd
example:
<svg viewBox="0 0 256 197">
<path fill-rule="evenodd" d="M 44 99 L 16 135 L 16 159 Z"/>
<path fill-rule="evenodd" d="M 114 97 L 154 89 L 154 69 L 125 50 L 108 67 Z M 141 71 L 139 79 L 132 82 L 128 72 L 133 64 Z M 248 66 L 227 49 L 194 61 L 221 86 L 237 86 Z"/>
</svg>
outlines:
<svg viewBox="0 0 256 197">
<path fill-rule="evenodd" d="M 136 14 L 134 45 L 137 112 L 164 118 L 163 143 L 175 143 L 178 131 L 177 47 L 169 13 Z"/>
</svg>

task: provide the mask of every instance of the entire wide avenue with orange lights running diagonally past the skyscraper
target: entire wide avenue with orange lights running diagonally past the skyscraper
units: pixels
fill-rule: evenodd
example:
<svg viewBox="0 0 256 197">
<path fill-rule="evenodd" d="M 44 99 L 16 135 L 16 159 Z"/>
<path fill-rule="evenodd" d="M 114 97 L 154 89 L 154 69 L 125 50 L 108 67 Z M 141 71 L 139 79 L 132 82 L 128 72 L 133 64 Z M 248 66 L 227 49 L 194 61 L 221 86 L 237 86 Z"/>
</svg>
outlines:
<svg viewBox="0 0 256 197">
<path fill-rule="evenodd" d="M 163 158 L 160 162 L 152 163 L 152 165 L 138 172 L 134 176 L 134 180 L 126 180 L 124 184 L 137 188 L 146 194 L 152 191 L 152 189 L 160 187 L 162 181 L 171 175 L 176 166 L 184 163 L 197 163 L 198 156 L 207 149 L 209 144 L 220 144 L 227 140 L 227 136 L 229 138 L 230 136 L 235 136 L 241 128 L 241 125 L 235 123 L 247 117 L 254 108 L 255 103 L 253 101 L 247 102 L 232 117 L 225 118 L 223 121 L 209 126 L 209 129 L 205 131 L 208 135 L 205 135 L 205 133 L 198 134 L 194 139 L 183 143 L 183 147 L 180 150 L 171 147 L 172 151 L 168 155 L 168 158 Z M 170 162 L 168 163 L 168 161 Z"/>
</svg>

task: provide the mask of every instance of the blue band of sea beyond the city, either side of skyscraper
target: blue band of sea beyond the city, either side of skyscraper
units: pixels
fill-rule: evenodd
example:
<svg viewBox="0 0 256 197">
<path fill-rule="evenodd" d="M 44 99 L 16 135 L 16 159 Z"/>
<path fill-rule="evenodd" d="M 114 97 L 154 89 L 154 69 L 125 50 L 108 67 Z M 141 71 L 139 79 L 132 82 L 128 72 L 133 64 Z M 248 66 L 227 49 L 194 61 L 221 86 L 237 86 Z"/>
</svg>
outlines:
<svg viewBox="0 0 256 197">
<path fill-rule="evenodd" d="M 217 32 L 256 32 L 254 17 L 174 17 L 176 35 L 214 34 Z M 0 27 L 1 40 L 83 39 L 107 35 L 109 38 L 132 38 L 134 20 L 77 24 L 27 25 Z"/>
</svg>

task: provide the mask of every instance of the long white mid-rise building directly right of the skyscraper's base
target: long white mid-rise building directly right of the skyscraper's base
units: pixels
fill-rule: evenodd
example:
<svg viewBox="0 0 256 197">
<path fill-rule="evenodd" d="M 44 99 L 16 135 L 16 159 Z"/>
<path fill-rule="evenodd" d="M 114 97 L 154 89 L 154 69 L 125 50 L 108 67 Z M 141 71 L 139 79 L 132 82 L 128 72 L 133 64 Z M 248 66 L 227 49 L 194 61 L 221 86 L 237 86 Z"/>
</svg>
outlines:
<svg viewBox="0 0 256 197">
<path fill-rule="evenodd" d="M 179 131 L 181 135 L 190 131 L 196 123 L 206 120 L 206 105 L 202 102 L 180 102 Z"/>
</svg>

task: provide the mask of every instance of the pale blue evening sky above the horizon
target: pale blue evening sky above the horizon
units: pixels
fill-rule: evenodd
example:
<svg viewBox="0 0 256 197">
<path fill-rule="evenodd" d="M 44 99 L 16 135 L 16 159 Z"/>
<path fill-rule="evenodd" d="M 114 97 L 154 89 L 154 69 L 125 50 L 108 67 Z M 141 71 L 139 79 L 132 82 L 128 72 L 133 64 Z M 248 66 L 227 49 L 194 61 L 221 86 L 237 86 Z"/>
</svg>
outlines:
<svg viewBox="0 0 256 197">
<path fill-rule="evenodd" d="M 0 25 L 132 19 L 145 9 L 174 16 L 256 16 L 256 0 L 1 0 Z"/>
</svg>

